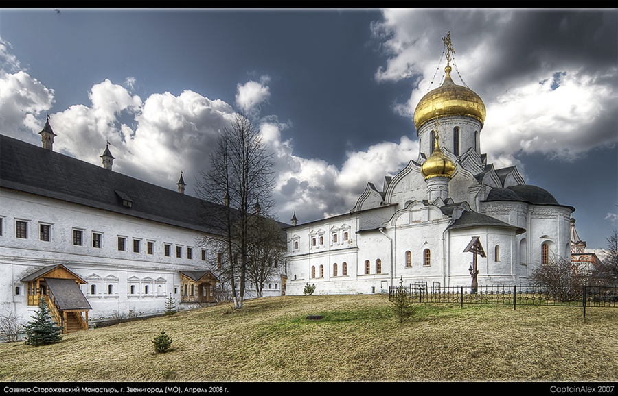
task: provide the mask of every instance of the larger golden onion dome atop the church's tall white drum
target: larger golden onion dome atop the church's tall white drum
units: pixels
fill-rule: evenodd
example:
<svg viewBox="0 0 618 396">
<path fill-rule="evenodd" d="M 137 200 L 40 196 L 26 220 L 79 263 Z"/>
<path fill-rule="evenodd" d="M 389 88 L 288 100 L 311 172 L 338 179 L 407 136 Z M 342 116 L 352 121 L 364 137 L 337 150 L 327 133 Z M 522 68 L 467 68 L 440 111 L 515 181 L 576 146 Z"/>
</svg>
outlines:
<svg viewBox="0 0 618 396">
<path fill-rule="evenodd" d="M 428 92 L 414 110 L 416 130 L 437 116 L 470 116 L 485 122 L 485 103 L 470 88 L 457 85 L 450 78 L 451 67 L 447 64 L 442 86 Z"/>
</svg>

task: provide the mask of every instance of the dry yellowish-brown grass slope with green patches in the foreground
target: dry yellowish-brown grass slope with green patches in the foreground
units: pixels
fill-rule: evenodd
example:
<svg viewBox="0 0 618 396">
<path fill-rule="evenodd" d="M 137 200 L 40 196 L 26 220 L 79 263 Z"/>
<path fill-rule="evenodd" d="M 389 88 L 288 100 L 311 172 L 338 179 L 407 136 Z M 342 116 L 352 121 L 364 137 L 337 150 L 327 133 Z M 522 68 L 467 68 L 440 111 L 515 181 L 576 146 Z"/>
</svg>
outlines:
<svg viewBox="0 0 618 396">
<path fill-rule="evenodd" d="M 0 381 L 615 381 L 618 311 L 421 305 L 385 295 L 271 297 L 0 345 Z M 226 313 L 227 312 L 227 313 Z M 321 314 L 321 321 L 305 321 Z M 155 354 L 165 330 L 174 342 Z"/>
</svg>

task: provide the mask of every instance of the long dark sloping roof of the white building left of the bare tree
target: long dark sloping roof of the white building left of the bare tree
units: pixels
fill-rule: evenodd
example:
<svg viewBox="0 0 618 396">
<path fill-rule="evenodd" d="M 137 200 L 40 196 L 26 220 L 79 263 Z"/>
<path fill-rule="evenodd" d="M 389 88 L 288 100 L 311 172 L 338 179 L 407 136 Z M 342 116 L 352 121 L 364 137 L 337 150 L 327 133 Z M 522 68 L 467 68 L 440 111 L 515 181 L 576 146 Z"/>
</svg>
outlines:
<svg viewBox="0 0 618 396">
<path fill-rule="evenodd" d="M 225 210 L 176 190 L 3 135 L 0 135 L 0 187 L 201 232 L 217 233 L 214 225 L 203 223 L 205 207 L 209 208 L 211 217 Z M 119 195 L 130 197 L 132 206 L 123 206 Z"/>
</svg>

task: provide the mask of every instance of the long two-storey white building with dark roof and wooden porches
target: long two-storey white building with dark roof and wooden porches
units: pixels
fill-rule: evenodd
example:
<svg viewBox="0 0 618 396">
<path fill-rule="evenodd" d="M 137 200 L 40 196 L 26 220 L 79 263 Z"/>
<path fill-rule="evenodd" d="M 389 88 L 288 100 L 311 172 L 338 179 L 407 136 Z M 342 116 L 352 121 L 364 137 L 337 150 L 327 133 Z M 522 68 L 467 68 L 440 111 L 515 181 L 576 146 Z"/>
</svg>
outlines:
<svg viewBox="0 0 618 396">
<path fill-rule="evenodd" d="M 220 236 L 203 212 L 216 205 L 185 195 L 182 175 L 169 190 L 113 171 L 108 147 L 103 166 L 54 152 L 54 136 L 49 120 L 43 147 L 0 135 L 0 314 L 25 322 L 45 298 L 73 331 L 161 313 L 168 297 L 214 303 Z M 284 280 L 264 295 L 282 295 Z"/>
</svg>

